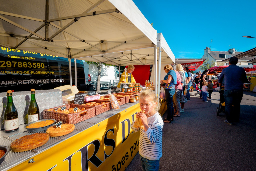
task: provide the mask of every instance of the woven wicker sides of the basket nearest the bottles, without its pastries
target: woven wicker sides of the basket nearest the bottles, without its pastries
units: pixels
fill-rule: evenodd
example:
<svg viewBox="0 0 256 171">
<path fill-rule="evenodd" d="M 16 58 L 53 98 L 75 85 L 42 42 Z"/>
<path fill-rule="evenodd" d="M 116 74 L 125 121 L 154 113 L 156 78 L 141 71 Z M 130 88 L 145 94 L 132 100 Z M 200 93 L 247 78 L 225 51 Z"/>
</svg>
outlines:
<svg viewBox="0 0 256 171">
<path fill-rule="evenodd" d="M 67 104 L 67 105 L 63 105 L 63 106 L 59 106 L 51 109 L 57 110 L 58 108 L 62 108 L 64 106 L 66 106 L 67 110 L 71 107 L 72 108 L 77 107 L 78 109 L 86 108 L 86 110 L 84 110 L 86 111 L 86 114 L 80 116 L 80 114 L 83 113 L 84 111 L 72 113 L 72 114 L 65 114 L 65 113 L 47 111 L 48 109 L 46 109 L 43 111 L 44 119 L 55 119 L 57 122 L 62 121 L 62 123 L 76 124 L 95 116 L 95 109 L 88 106 L 84 106 L 84 105 Z"/>
</svg>

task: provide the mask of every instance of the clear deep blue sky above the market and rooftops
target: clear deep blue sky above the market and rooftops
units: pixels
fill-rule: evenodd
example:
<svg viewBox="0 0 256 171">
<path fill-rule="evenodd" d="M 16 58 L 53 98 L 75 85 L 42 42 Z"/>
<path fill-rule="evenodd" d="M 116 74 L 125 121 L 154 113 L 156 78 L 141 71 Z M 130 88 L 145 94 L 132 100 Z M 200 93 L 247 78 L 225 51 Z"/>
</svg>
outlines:
<svg viewBox="0 0 256 171">
<path fill-rule="evenodd" d="M 211 51 L 247 51 L 256 47 L 256 1 L 133 0 L 157 33 L 162 32 L 176 58 L 201 58 Z"/>
</svg>

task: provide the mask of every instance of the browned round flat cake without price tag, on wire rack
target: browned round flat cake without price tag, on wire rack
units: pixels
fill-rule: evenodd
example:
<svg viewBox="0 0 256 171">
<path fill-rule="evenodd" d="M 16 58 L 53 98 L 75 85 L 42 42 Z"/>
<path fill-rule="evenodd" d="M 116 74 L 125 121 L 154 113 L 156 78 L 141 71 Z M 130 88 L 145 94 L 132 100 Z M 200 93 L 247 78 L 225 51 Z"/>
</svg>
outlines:
<svg viewBox="0 0 256 171">
<path fill-rule="evenodd" d="M 10 147 L 14 152 L 33 150 L 47 143 L 49 137 L 49 134 L 46 133 L 35 133 L 31 135 L 26 135 L 13 141 Z"/>
</svg>

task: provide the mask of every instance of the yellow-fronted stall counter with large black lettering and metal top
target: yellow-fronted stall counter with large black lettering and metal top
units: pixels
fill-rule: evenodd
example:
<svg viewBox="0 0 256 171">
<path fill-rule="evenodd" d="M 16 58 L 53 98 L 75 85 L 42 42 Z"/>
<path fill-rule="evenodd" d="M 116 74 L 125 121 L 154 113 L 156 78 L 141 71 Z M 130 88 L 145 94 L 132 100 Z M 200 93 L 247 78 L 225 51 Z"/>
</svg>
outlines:
<svg viewBox="0 0 256 171">
<path fill-rule="evenodd" d="M 138 152 L 139 132 L 131 123 L 140 111 L 139 103 L 127 103 L 116 111 L 107 111 L 75 124 L 75 130 L 49 141 L 32 151 L 15 153 L 10 149 L 1 171 L 71 171 L 125 170 Z M 8 146 L 13 140 L 31 133 L 1 131 L 0 144 Z"/>
</svg>

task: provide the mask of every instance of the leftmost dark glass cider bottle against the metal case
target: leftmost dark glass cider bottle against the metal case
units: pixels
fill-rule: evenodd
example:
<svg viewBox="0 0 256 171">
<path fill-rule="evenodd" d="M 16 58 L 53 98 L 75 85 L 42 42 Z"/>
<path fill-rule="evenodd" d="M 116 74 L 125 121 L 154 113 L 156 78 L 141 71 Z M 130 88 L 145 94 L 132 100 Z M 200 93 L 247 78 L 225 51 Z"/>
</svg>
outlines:
<svg viewBox="0 0 256 171">
<path fill-rule="evenodd" d="M 14 132 L 19 129 L 19 115 L 12 99 L 12 90 L 7 91 L 7 105 L 4 110 L 4 131 Z"/>
</svg>

